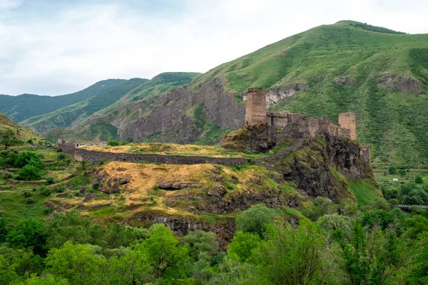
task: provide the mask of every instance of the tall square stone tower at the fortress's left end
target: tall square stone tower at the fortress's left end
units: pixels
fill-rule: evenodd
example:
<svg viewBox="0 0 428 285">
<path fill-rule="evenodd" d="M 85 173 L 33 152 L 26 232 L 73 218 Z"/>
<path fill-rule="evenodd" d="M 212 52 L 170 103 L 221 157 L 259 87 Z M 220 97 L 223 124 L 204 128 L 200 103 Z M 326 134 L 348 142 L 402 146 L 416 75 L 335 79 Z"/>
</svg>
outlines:
<svg viewBox="0 0 428 285">
<path fill-rule="evenodd" d="M 263 88 L 248 88 L 245 125 L 258 125 L 266 121 L 266 94 Z"/>
</svg>

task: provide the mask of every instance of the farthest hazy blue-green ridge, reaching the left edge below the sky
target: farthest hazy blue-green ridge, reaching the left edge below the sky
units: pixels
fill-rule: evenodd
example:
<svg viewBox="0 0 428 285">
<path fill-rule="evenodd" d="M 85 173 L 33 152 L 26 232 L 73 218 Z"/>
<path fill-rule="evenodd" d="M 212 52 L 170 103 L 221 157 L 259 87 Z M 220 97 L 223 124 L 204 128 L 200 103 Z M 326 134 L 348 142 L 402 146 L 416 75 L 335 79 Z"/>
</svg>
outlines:
<svg viewBox="0 0 428 285">
<path fill-rule="evenodd" d="M 54 110 L 81 102 L 94 96 L 115 98 L 118 94 L 123 95 L 146 81 L 147 79 L 141 78 L 133 78 L 129 81 L 124 79 L 108 79 L 99 81 L 76 93 L 59 96 L 32 94 L 22 94 L 18 96 L 0 95 L 0 112 L 9 116 L 11 120 L 21 122 L 37 115 L 51 113 Z"/>
</svg>

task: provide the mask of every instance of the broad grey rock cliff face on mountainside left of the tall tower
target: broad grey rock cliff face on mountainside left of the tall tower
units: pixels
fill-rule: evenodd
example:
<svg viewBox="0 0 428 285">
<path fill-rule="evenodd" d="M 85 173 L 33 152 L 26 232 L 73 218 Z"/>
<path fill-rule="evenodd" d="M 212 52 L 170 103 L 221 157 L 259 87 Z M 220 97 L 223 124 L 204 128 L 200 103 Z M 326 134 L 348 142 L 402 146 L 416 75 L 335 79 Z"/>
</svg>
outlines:
<svg viewBox="0 0 428 285">
<path fill-rule="evenodd" d="M 118 128 L 121 138 L 138 141 L 156 135 L 164 142 L 188 143 L 198 140 L 210 126 L 238 128 L 244 117 L 245 105 L 214 79 L 195 92 L 180 87 L 150 100 L 123 105 L 108 120 Z"/>
</svg>

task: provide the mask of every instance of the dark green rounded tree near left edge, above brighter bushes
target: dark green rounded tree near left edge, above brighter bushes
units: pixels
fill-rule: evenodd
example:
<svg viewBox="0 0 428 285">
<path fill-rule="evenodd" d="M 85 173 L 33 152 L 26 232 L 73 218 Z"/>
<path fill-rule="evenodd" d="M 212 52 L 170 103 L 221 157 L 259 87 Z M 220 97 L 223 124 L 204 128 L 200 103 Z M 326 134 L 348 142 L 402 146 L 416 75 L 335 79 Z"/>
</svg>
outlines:
<svg viewBox="0 0 428 285">
<path fill-rule="evenodd" d="M 43 222 L 34 218 L 21 219 L 16 227 L 6 236 L 6 242 L 11 247 L 26 249 L 33 248 L 35 254 L 46 254 L 46 235 L 43 232 Z"/>
</svg>

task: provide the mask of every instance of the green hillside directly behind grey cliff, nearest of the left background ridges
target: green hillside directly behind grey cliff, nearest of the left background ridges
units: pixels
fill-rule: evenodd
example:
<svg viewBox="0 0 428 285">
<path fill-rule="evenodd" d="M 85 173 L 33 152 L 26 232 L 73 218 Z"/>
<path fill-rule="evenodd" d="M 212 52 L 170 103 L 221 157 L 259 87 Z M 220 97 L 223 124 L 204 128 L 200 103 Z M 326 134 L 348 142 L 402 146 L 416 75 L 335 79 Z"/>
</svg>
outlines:
<svg viewBox="0 0 428 285">
<path fill-rule="evenodd" d="M 103 110 L 99 110 L 97 113 L 93 113 L 87 118 L 77 118 L 73 124 L 70 125 L 70 128 L 53 128 L 52 130 L 44 133 L 44 135 L 46 138 L 50 138 L 51 140 L 56 140 L 58 136 L 65 136 L 69 141 L 76 139 L 118 140 L 121 138 L 118 135 L 118 129 L 116 125 L 112 125 L 110 123 L 110 120 L 114 120 L 114 118 L 116 118 L 119 110 L 123 110 L 124 113 L 121 114 L 124 117 L 129 115 L 129 113 L 127 114 L 128 109 L 123 109 L 121 106 L 135 105 L 138 101 L 153 102 L 152 98 L 157 95 L 164 93 L 166 90 L 172 90 L 177 86 L 189 83 L 197 76 L 200 76 L 200 73 L 161 73 L 158 76 L 153 77 L 151 81 L 147 81 L 141 86 L 131 90 L 126 95 L 123 95 L 120 100 L 108 105 L 108 107 Z M 49 123 L 45 121 L 43 124 L 49 128 Z M 33 127 L 33 125 L 31 125 L 31 127 Z"/>
</svg>

